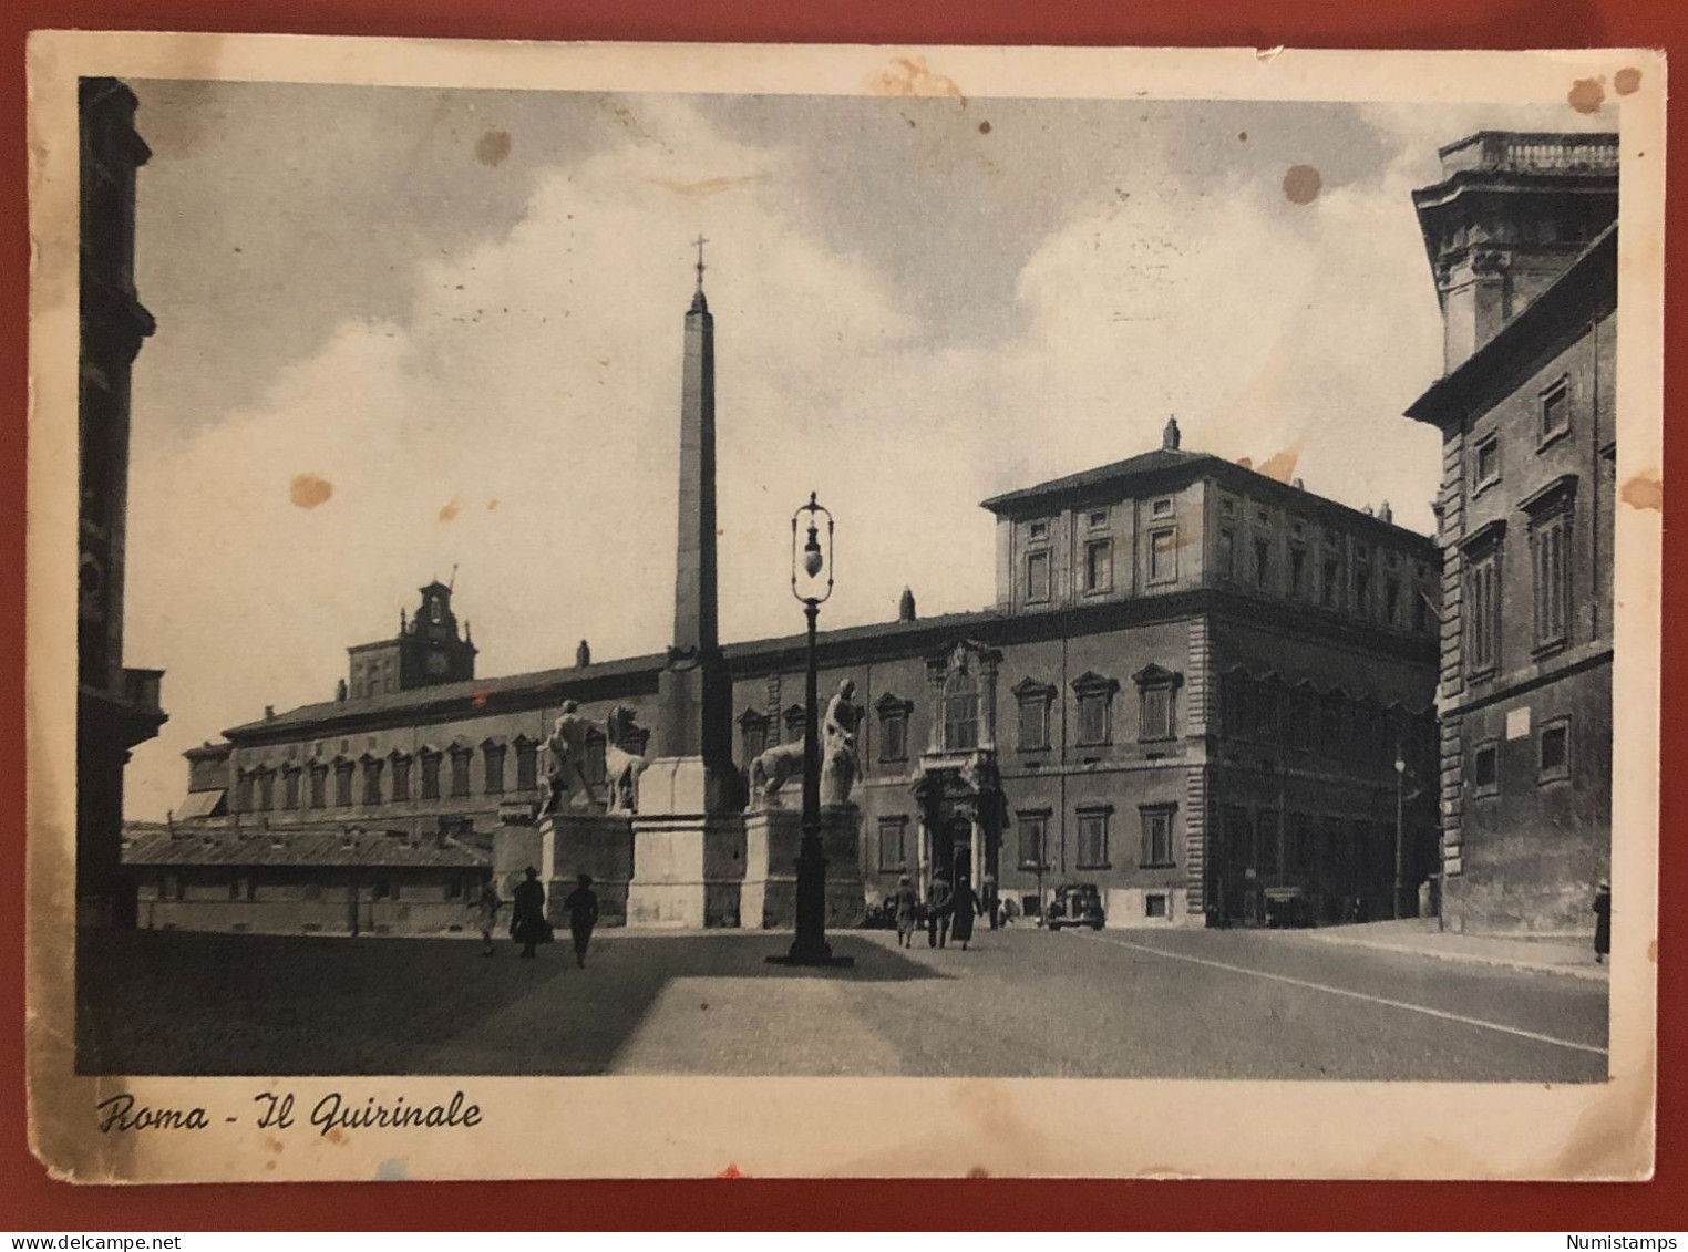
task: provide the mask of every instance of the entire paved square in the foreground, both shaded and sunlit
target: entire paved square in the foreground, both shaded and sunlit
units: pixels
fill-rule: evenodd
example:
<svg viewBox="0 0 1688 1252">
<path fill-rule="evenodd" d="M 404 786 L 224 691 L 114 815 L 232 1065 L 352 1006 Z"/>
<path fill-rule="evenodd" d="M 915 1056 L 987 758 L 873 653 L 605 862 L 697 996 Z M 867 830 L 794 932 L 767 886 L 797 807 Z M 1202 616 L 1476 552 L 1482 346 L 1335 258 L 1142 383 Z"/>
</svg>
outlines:
<svg viewBox="0 0 1688 1252">
<path fill-rule="evenodd" d="M 501 943 L 182 931 L 79 940 L 83 1071 L 1588 1082 L 1607 987 L 1281 931 L 979 931 L 967 950 L 603 931 Z M 98 1006 L 98 1009 L 89 1007 Z"/>
</svg>

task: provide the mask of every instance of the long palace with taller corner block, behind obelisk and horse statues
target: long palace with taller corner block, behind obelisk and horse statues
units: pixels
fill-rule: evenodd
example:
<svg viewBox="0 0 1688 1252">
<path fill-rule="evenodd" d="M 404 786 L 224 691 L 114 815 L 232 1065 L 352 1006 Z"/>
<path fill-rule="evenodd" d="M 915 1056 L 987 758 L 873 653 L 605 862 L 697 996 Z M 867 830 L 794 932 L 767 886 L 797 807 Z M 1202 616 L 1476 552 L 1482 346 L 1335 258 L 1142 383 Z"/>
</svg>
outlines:
<svg viewBox="0 0 1688 1252">
<path fill-rule="evenodd" d="M 1185 451 L 1175 422 L 1160 449 L 984 506 L 991 607 L 923 619 L 905 596 L 895 621 L 819 638 L 822 692 L 852 680 L 864 710 L 852 800 L 869 901 L 908 872 L 922 888 L 994 879 L 1026 913 L 1090 882 L 1109 925 L 1376 918 L 1398 894 L 1416 909 L 1438 867 L 1428 537 L 1388 508 Z M 540 744 L 565 700 L 599 727 L 587 774 L 606 807 L 604 729 L 647 749 L 670 658 L 591 661 L 582 646 L 569 668 L 476 678 L 468 646 L 451 589 L 430 584 L 398 636 L 349 650 L 334 700 L 187 753 L 172 830 L 132 857 L 154 925 L 213 920 L 172 911 L 172 891 L 216 898 L 223 928 L 248 898 L 302 889 L 295 867 L 267 869 L 295 845 L 490 849 L 533 822 Z M 454 660 L 430 666 L 432 650 Z M 758 807 L 749 763 L 802 737 L 803 639 L 722 655 L 734 805 Z M 613 719 L 618 705 L 633 717 Z M 795 805 L 798 788 L 785 791 L 776 803 Z M 169 861 L 157 844 L 172 840 L 216 852 Z M 611 921 L 626 852 L 598 872 Z M 321 886 L 351 891 L 344 869 L 324 867 Z M 417 888 L 442 904 L 452 889 Z"/>
</svg>

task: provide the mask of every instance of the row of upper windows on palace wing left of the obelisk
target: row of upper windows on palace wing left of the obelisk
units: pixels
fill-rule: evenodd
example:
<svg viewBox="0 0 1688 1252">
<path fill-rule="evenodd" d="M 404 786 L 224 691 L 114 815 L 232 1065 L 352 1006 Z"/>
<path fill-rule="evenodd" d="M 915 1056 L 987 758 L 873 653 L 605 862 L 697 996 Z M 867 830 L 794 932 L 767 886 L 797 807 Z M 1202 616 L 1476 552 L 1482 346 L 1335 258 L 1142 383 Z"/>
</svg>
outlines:
<svg viewBox="0 0 1688 1252">
<path fill-rule="evenodd" d="M 505 744 L 481 746 L 481 793 L 501 795 L 506 783 Z M 414 759 L 403 753 L 390 758 L 365 758 L 363 761 L 333 761 L 304 768 L 284 764 L 280 769 L 260 766 L 240 771 L 235 783 L 235 812 L 267 813 L 275 808 L 349 808 L 353 803 L 407 803 L 412 798 L 439 800 L 441 788 L 449 786 L 452 798 L 471 795 L 473 747 L 451 747 L 446 753 L 422 749 Z M 518 739 L 515 742 L 515 790 L 532 791 L 538 786 L 538 744 Z M 442 766 L 449 761 L 449 773 Z M 415 766 L 415 769 L 412 769 Z M 361 771 L 361 786 L 358 774 Z M 333 774 L 333 803 L 329 791 Z M 277 786 L 280 781 L 280 786 Z M 587 737 L 587 781 L 604 781 L 604 741 Z M 415 795 L 412 795 L 415 786 Z M 354 800 L 354 796 L 358 796 Z"/>
</svg>

